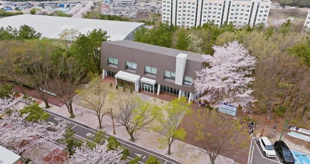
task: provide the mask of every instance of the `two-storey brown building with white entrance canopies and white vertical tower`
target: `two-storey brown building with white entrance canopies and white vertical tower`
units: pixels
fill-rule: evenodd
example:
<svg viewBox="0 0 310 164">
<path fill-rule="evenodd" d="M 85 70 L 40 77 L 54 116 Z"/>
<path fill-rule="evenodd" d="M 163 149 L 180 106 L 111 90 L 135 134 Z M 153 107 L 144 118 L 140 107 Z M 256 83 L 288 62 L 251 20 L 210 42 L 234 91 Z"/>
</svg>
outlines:
<svg viewBox="0 0 310 164">
<path fill-rule="evenodd" d="M 135 92 L 167 92 L 190 102 L 199 97 L 195 71 L 204 66 L 202 54 L 194 52 L 129 40 L 102 43 L 102 78 L 114 77 L 117 85 Z"/>
</svg>

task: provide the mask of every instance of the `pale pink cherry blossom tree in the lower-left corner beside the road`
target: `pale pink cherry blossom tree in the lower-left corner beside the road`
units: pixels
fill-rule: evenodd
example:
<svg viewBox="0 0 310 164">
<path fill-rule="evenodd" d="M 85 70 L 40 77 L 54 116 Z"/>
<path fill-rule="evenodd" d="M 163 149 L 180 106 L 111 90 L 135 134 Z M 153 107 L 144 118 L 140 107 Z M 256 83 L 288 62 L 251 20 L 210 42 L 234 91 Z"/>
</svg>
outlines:
<svg viewBox="0 0 310 164">
<path fill-rule="evenodd" d="M 63 131 L 47 131 L 50 126 L 45 122 L 28 122 L 25 120 L 27 116 L 13 112 L 3 119 L 0 126 L 1 146 L 21 155 L 32 148 L 63 138 Z"/>
</svg>

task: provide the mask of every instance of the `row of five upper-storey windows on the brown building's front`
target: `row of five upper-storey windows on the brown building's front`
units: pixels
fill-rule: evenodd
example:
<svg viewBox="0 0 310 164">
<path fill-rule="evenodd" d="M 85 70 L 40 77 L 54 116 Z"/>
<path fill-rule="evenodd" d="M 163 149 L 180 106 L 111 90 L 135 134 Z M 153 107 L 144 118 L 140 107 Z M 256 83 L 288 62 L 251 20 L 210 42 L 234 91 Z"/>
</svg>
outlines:
<svg viewBox="0 0 310 164">
<path fill-rule="evenodd" d="M 108 63 L 109 63 L 109 65 L 112 65 L 112 66 L 118 66 L 118 59 L 109 57 L 108 58 Z M 126 69 L 137 70 L 137 63 L 126 62 Z M 145 66 L 144 73 L 156 76 L 157 68 L 152 67 L 152 66 Z M 170 79 L 170 80 L 175 80 L 175 72 L 171 72 L 171 71 L 165 70 L 164 78 L 165 79 Z M 184 84 L 192 85 L 192 82 L 193 82 L 193 78 L 185 76 Z"/>
</svg>

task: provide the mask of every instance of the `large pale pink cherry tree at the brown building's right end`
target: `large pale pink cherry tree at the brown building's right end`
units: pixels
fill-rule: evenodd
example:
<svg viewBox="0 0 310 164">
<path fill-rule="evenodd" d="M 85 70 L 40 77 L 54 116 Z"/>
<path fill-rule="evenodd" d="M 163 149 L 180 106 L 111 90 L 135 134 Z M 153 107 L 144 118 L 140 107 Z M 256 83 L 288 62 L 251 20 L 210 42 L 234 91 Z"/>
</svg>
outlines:
<svg viewBox="0 0 310 164">
<path fill-rule="evenodd" d="M 237 41 L 223 47 L 213 46 L 213 49 L 213 56 L 203 55 L 209 66 L 196 72 L 196 92 L 213 108 L 224 101 L 234 106 L 240 105 L 244 112 L 250 111 L 255 98 L 248 86 L 255 80 L 250 77 L 256 64 L 255 57 Z"/>
</svg>

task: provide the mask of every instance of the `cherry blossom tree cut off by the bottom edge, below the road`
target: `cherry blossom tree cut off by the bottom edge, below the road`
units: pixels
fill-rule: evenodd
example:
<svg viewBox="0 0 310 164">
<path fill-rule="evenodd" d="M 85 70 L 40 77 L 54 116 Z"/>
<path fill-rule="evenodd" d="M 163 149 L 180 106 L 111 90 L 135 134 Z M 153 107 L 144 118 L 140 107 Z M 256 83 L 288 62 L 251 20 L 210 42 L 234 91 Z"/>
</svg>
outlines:
<svg viewBox="0 0 310 164">
<path fill-rule="evenodd" d="M 81 147 L 75 149 L 74 161 L 82 164 L 126 164 L 127 161 L 121 159 L 122 148 L 108 149 L 108 142 L 96 145 L 94 148 L 89 148 L 84 142 Z"/>
</svg>

